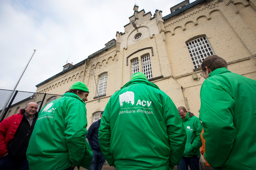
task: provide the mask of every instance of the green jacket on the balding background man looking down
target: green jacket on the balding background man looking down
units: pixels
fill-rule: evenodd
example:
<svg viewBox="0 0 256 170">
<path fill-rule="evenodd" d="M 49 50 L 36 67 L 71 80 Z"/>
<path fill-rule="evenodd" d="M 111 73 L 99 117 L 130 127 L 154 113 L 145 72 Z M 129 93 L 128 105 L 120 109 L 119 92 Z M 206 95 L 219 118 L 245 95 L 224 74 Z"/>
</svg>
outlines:
<svg viewBox="0 0 256 170">
<path fill-rule="evenodd" d="M 183 156 L 189 158 L 194 155 L 201 156 L 200 147 L 202 146 L 201 132 L 203 126 L 196 116 L 188 117 L 188 115 L 189 113 L 187 113 L 185 119 L 182 121 L 187 132 L 187 141 Z"/>
</svg>

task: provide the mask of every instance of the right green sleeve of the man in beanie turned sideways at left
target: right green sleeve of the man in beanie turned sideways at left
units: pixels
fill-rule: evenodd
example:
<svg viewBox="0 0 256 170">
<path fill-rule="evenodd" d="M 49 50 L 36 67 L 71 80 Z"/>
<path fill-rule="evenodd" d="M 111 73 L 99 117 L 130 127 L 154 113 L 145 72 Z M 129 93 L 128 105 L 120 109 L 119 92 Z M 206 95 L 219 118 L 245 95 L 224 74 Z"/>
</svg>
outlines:
<svg viewBox="0 0 256 170">
<path fill-rule="evenodd" d="M 87 134 L 86 108 L 75 103 L 68 106 L 65 115 L 65 135 L 68 146 L 69 160 L 73 166 L 78 166 L 84 157 L 85 135 Z"/>
</svg>

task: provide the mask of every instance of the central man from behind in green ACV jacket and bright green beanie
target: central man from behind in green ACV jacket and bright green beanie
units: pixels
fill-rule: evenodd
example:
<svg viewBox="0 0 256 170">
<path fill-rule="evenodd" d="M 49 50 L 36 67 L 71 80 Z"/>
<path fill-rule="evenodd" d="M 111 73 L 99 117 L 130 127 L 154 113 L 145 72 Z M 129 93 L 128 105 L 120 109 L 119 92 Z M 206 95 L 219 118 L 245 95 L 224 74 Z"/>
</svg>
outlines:
<svg viewBox="0 0 256 170">
<path fill-rule="evenodd" d="M 186 137 L 170 97 L 141 72 L 109 99 L 99 129 L 101 152 L 118 170 L 173 169 Z"/>
</svg>

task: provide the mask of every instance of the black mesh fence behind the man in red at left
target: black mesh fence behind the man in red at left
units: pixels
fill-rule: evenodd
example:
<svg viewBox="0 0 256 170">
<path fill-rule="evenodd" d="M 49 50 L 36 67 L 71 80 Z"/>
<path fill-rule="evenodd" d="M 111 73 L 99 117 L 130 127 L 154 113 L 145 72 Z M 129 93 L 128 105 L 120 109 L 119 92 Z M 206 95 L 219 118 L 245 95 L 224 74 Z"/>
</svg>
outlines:
<svg viewBox="0 0 256 170">
<path fill-rule="evenodd" d="M 2 112 L 5 103 L 12 94 L 12 90 L 0 89 L 0 113 Z M 35 93 L 35 92 L 22 92 L 16 90 L 11 100 L 9 101 L 4 114 L 1 116 L 2 122 L 5 118 L 19 113 L 20 109 L 23 109 L 27 103 L 36 102 L 38 104 L 37 111 L 39 112 L 47 103 L 60 98 L 62 95 L 57 94 L 46 94 L 46 93 Z"/>
</svg>

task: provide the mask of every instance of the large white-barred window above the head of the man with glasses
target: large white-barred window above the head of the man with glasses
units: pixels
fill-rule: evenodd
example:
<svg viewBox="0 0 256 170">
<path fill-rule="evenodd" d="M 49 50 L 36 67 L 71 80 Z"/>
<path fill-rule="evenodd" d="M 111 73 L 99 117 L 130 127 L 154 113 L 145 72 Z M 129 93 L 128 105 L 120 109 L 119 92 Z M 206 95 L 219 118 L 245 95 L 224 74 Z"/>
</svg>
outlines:
<svg viewBox="0 0 256 170">
<path fill-rule="evenodd" d="M 200 67 L 201 63 L 207 56 L 214 55 L 206 37 L 200 37 L 189 41 L 187 43 L 187 47 L 195 69 Z"/>
</svg>

